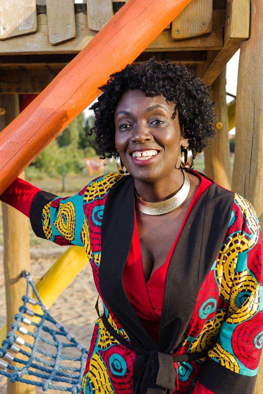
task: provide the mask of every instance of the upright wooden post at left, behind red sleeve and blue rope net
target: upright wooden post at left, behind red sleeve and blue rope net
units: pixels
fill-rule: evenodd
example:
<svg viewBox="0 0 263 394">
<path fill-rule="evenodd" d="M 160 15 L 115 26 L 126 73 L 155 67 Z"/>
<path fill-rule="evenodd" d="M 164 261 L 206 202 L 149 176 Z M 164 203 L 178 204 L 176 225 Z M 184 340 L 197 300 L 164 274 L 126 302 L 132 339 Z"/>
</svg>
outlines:
<svg viewBox="0 0 263 394">
<path fill-rule="evenodd" d="M 0 95 L 0 107 L 5 110 L 4 115 L 0 116 L 0 130 L 3 130 L 19 114 L 18 95 Z M 23 269 L 30 271 L 29 221 L 15 208 L 4 203 L 2 203 L 2 212 L 6 314 L 9 331 L 26 291 L 26 281 L 21 278 L 21 271 Z M 32 385 L 7 382 L 7 394 L 33 394 L 34 392 L 35 387 Z"/>
</svg>

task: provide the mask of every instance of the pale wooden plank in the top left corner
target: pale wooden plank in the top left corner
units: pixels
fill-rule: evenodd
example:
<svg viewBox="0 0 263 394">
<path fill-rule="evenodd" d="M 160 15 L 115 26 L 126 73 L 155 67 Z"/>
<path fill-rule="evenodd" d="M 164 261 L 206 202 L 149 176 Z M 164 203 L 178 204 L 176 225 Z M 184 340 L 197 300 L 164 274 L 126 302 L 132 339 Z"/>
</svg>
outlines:
<svg viewBox="0 0 263 394">
<path fill-rule="evenodd" d="M 35 0 L 1 0 L 0 40 L 34 33 L 37 30 Z"/>
</svg>

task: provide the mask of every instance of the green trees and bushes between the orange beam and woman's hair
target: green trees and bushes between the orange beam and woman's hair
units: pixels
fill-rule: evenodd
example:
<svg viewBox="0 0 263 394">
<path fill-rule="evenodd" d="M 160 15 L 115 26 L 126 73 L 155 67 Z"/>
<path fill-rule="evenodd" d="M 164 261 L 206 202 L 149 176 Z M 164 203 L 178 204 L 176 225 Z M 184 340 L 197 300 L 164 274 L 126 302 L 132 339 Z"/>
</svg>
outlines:
<svg viewBox="0 0 263 394">
<path fill-rule="evenodd" d="M 85 168 L 84 158 L 96 156 L 92 136 L 86 137 L 86 132 L 90 132 L 92 121 L 91 118 L 85 120 L 83 113 L 76 117 L 35 158 L 28 168 L 28 176 L 30 178 L 57 177 L 62 173 L 63 164 L 67 174 L 81 173 Z"/>
</svg>

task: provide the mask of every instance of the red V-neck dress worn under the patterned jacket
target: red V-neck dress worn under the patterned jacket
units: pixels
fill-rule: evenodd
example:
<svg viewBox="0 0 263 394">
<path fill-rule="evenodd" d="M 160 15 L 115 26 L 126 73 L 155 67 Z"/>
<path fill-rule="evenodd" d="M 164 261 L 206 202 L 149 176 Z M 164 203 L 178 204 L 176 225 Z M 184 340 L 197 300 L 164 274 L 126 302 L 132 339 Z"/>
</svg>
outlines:
<svg viewBox="0 0 263 394">
<path fill-rule="evenodd" d="M 135 215 L 135 226 L 131 249 L 129 251 L 127 262 L 123 269 L 123 287 L 144 329 L 157 344 L 159 344 L 159 326 L 160 316 L 162 312 L 162 303 L 164 299 L 166 273 L 170 258 L 173 253 L 173 249 L 177 240 L 179 239 L 179 236 L 183 230 L 185 222 L 187 221 L 187 218 L 192 208 L 194 207 L 202 193 L 212 184 L 210 180 L 200 177 L 198 173 L 195 172 L 195 175 L 200 178 L 201 183 L 198 186 L 196 193 L 194 194 L 185 219 L 182 223 L 181 229 L 179 230 L 179 233 L 175 238 L 175 241 L 172 245 L 172 248 L 170 249 L 170 252 L 168 253 L 165 263 L 153 272 L 149 281 L 146 283 L 144 278 L 142 254 L 140 249 L 140 240 L 138 236 Z M 215 393 L 197 382 L 193 394 Z"/>
</svg>

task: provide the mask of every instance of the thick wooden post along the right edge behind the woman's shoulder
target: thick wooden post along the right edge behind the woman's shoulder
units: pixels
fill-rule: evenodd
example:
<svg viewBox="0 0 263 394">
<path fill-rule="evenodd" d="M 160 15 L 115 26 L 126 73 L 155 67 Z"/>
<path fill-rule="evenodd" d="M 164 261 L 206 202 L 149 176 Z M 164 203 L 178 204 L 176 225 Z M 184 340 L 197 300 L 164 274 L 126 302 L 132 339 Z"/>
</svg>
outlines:
<svg viewBox="0 0 263 394">
<path fill-rule="evenodd" d="M 241 44 L 232 188 L 254 206 L 263 224 L 263 3 L 251 1 L 250 39 Z M 263 370 L 256 385 L 262 393 Z"/>
</svg>

